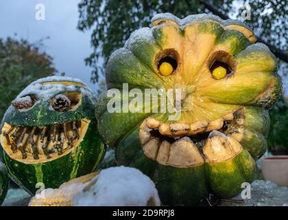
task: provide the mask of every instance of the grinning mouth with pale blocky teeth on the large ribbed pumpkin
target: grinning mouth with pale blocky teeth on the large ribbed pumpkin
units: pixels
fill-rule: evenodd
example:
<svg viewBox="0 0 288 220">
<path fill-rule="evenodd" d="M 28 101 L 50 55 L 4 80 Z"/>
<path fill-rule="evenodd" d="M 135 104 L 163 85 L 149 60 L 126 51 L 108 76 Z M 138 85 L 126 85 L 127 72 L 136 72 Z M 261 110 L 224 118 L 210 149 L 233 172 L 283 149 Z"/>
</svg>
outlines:
<svg viewBox="0 0 288 220">
<path fill-rule="evenodd" d="M 244 120 L 243 108 L 230 111 L 212 122 L 198 121 L 193 124 L 165 123 L 148 117 L 140 126 L 139 139 L 145 155 L 159 164 L 197 166 L 203 164 L 204 159 L 224 161 L 236 156 L 239 146 L 241 148 L 239 142 L 243 138 Z M 211 140 L 214 145 L 212 150 Z M 215 151 L 221 148 L 218 144 L 224 148 L 229 145 L 234 153 L 217 155 Z"/>
</svg>

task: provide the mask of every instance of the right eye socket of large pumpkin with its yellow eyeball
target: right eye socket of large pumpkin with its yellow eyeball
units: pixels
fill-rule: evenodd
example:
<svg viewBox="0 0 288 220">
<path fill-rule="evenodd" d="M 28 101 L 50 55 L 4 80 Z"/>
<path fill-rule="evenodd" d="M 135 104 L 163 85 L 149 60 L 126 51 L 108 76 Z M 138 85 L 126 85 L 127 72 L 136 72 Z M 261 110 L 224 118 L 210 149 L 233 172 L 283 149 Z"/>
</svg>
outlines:
<svg viewBox="0 0 288 220">
<path fill-rule="evenodd" d="M 235 66 L 235 60 L 224 51 L 215 52 L 208 58 L 209 70 L 216 80 L 232 76 L 235 72 Z"/>
</svg>

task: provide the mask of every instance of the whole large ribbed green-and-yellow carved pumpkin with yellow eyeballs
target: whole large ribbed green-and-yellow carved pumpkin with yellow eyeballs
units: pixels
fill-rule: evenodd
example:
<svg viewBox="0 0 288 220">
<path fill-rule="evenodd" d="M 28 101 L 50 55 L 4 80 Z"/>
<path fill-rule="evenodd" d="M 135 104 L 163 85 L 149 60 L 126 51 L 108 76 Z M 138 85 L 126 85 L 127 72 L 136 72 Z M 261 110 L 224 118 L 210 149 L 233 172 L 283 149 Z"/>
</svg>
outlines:
<svg viewBox="0 0 288 220">
<path fill-rule="evenodd" d="M 99 101 L 100 135 L 116 147 L 118 164 L 154 180 L 164 204 L 237 195 L 267 149 L 268 109 L 282 89 L 276 59 L 238 21 L 158 14 L 152 25 L 136 30 L 108 60 L 108 89 L 121 92 Z M 123 83 L 134 94 L 124 92 Z M 180 118 L 161 110 L 162 96 L 156 107 L 151 101 L 127 111 L 124 100 L 134 107 L 136 91 L 145 89 L 180 89 Z M 111 100 L 121 109 L 108 111 Z"/>
</svg>

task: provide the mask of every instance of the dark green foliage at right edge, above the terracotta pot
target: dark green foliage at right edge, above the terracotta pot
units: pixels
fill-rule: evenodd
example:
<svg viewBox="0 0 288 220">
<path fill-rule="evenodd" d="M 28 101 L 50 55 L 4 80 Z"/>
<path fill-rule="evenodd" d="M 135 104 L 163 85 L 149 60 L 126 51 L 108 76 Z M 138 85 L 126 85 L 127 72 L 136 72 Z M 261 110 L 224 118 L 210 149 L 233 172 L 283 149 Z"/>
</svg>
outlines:
<svg viewBox="0 0 288 220">
<path fill-rule="evenodd" d="M 271 126 L 267 138 L 269 151 L 274 154 L 288 154 L 288 103 L 281 97 L 270 111 Z"/>
</svg>

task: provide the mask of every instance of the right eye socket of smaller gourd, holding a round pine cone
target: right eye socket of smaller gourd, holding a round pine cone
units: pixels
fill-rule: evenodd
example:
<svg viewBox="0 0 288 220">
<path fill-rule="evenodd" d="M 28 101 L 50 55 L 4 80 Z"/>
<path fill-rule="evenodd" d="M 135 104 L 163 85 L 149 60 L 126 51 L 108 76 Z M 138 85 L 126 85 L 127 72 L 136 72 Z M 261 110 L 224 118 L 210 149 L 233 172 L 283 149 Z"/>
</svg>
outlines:
<svg viewBox="0 0 288 220">
<path fill-rule="evenodd" d="M 80 106 L 82 102 L 82 94 L 78 92 L 67 92 L 64 94 L 58 94 L 51 99 L 51 107 L 55 111 L 74 111 Z"/>
</svg>

